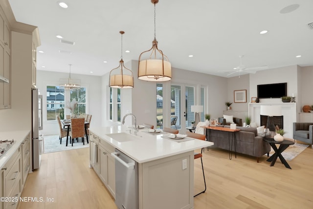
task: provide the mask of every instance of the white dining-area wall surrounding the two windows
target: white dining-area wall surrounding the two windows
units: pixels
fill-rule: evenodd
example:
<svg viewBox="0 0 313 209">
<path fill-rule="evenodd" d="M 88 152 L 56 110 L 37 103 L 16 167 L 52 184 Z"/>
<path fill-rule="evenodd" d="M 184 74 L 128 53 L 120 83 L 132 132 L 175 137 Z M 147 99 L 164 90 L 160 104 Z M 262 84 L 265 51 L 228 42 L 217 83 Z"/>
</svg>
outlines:
<svg viewBox="0 0 313 209">
<path fill-rule="evenodd" d="M 68 73 L 37 70 L 37 88 L 43 95 L 43 111 L 46 112 L 46 86 L 59 85 L 60 78 L 67 78 Z M 104 92 L 101 87 L 101 77 L 94 75 L 80 75 L 71 73 L 71 78 L 80 79 L 81 86 L 87 87 L 87 114 L 92 115 L 90 127 L 101 126 L 101 93 Z M 58 134 L 60 132 L 57 121 L 47 121 L 44 114 L 44 129 L 41 131 L 44 135 Z"/>
</svg>

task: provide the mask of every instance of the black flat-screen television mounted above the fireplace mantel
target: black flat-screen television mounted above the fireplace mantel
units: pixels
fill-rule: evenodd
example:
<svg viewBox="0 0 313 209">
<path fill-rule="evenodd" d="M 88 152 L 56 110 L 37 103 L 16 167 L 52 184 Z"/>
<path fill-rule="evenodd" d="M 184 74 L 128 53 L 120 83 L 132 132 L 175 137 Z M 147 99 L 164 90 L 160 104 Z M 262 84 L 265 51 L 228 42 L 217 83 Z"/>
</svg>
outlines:
<svg viewBox="0 0 313 209">
<path fill-rule="evenodd" d="M 287 83 L 258 85 L 258 98 L 280 98 L 287 96 Z"/>
</svg>

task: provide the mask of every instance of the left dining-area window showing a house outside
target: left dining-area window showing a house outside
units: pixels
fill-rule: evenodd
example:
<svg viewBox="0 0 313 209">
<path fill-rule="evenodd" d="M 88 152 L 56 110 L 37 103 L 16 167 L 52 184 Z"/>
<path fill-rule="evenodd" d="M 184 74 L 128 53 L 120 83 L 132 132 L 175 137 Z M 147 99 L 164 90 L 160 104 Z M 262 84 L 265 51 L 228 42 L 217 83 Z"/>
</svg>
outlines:
<svg viewBox="0 0 313 209">
<path fill-rule="evenodd" d="M 56 120 L 59 115 L 64 119 L 64 89 L 59 86 L 47 86 L 47 120 Z"/>
</svg>

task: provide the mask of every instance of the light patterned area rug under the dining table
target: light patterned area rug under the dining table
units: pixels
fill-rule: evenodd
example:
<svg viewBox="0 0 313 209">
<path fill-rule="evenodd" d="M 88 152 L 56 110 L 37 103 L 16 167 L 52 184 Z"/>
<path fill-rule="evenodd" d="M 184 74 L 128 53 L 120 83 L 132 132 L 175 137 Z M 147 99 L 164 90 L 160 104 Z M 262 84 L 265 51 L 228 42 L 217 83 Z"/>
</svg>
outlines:
<svg viewBox="0 0 313 209">
<path fill-rule="evenodd" d="M 68 139 L 67 146 L 66 146 L 66 142 L 67 142 L 66 137 L 62 139 L 62 144 L 60 144 L 59 135 L 46 135 L 44 136 L 44 153 L 59 152 L 59 151 L 89 147 L 89 143 L 87 143 L 86 137 L 85 137 L 85 145 L 83 145 L 81 138 L 78 139 L 78 142 L 75 140 L 75 142 L 73 143 L 73 146 L 71 146 L 71 144 L 69 143 L 69 139 Z"/>
</svg>

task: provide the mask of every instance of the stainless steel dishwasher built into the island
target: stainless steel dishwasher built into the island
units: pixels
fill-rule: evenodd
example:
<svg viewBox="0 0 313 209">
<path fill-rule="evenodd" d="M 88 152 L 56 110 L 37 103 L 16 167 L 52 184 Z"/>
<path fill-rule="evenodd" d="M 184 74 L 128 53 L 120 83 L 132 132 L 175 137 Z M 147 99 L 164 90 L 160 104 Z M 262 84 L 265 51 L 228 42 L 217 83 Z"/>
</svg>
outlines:
<svg viewBox="0 0 313 209">
<path fill-rule="evenodd" d="M 138 209 L 138 163 L 115 149 L 115 204 L 119 209 Z"/>
</svg>

